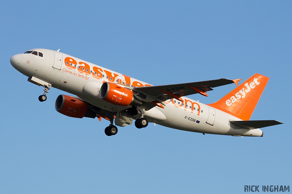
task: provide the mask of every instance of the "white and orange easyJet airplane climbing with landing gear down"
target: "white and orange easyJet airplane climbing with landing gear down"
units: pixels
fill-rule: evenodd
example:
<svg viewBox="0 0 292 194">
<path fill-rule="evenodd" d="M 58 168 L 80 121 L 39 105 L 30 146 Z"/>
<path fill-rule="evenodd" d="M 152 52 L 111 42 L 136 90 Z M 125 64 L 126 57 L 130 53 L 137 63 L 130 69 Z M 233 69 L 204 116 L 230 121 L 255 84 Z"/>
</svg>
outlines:
<svg viewBox="0 0 292 194">
<path fill-rule="evenodd" d="M 133 120 L 138 129 L 152 122 L 204 135 L 241 137 L 263 137 L 259 128 L 282 124 L 276 120 L 250 120 L 269 80 L 260 74 L 239 86 L 241 79 L 153 86 L 59 51 L 30 49 L 13 55 L 10 63 L 29 82 L 44 88 L 40 102 L 46 101 L 51 87 L 76 95 L 59 95 L 56 111 L 73 118 L 104 118 L 110 122 L 105 128 L 107 136 L 116 135 L 117 126 L 131 125 Z M 208 97 L 208 91 L 231 83 L 237 87 L 212 104 L 186 97 Z"/>
</svg>

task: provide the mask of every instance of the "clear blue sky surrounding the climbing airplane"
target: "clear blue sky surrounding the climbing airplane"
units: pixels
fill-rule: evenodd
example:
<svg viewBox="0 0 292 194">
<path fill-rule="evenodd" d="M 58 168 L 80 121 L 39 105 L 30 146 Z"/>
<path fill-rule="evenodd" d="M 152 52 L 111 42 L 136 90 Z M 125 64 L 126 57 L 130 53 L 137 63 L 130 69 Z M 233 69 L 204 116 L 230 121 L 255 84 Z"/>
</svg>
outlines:
<svg viewBox="0 0 292 194">
<path fill-rule="evenodd" d="M 3 1 L 0 12 L 1 193 L 244 193 L 292 185 L 291 1 Z M 260 138 L 154 125 L 119 128 L 55 111 L 66 94 L 9 63 L 57 50 L 153 85 L 270 77 L 251 120 L 279 120 Z M 235 85 L 192 95 L 212 103 Z"/>
</svg>

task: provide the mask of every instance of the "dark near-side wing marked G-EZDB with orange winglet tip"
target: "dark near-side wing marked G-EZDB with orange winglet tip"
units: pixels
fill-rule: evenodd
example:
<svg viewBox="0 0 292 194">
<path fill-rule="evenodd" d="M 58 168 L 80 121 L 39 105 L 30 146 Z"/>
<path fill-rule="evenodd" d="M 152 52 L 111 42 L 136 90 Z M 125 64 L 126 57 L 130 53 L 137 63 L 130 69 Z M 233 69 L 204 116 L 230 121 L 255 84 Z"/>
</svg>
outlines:
<svg viewBox="0 0 292 194">
<path fill-rule="evenodd" d="M 180 97 L 192 95 L 192 94 L 201 94 L 204 96 L 208 96 L 206 94 L 207 91 L 213 90 L 212 88 L 218 86 L 224 86 L 230 83 L 238 84 L 237 80 L 231 79 L 215 79 L 209 81 L 199 81 L 199 82 L 190 82 L 190 83 L 180 83 L 180 84 L 170 84 L 170 85 L 161 85 L 161 86 L 143 86 L 143 87 L 135 87 L 133 88 L 133 92 L 135 92 L 139 97 L 143 99 L 147 99 L 147 95 L 156 99 L 159 103 L 160 101 L 164 102 L 168 99 L 179 99 Z M 159 99 L 157 99 L 159 98 Z M 148 98 L 149 102 L 152 102 L 150 98 Z"/>
</svg>

